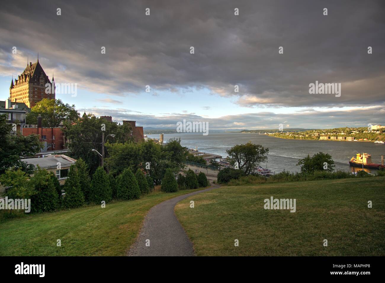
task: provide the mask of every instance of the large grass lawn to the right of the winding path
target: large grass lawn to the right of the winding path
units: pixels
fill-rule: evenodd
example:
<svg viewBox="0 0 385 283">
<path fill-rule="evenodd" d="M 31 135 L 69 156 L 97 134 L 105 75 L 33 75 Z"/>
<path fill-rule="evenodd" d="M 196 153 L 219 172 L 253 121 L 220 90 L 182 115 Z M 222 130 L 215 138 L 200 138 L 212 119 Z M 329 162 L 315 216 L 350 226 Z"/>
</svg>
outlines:
<svg viewBox="0 0 385 283">
<path fill-rule="evenodd" d="M 296 212 L 264 209 L 270 196 Z M 385 255 L 385 177 L 222 187 L 175 212 L 198 256 Z"/>
</svg>

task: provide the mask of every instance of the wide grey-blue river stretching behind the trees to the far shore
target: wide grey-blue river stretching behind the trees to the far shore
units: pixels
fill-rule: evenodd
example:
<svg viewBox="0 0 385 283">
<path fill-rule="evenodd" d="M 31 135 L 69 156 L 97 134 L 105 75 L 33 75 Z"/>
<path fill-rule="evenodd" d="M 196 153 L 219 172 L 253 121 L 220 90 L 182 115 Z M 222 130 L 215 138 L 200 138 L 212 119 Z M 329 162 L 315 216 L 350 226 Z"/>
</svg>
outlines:
<svg viewBox="0 0 385 283">
<path fill-rule="evenodd" d="M 159 139 L 158 134 L 147 136 Z M 245 144 L 249 141 L 261 144 L 269 149 L 268 161 L 267 164 L 263 164 L 263 167 L 267 166 L 268 169 L 275 172 L 283 170 L 299 172 L 300 166 L 296 166 L 298 159 L 306 157 L 308 154 L 312 156 L 320 151 L 331 155 L 335 162 L 335 169 L 344 171 L 353 171 L 349 160 L 358 152 L 372 154 L 374 163 L 381 163 L 381 154 L 385 154 L 385 145 L 373 142 L 280 139 L 258 133 L 235 132 L 209 132 L 207 136 L 203 136 L 202 133 L 164 134 L 164 141 L 166 142 L 172 137 L 180 137 L 182 146 L 188 148 L 198 146 L 199 151 L 219 154 L 223 157 L 227 156 L 226 150 L 236 144 Z M 365 169 L 365 171 L 370 172 L 369 169 Z"/>
</svg>

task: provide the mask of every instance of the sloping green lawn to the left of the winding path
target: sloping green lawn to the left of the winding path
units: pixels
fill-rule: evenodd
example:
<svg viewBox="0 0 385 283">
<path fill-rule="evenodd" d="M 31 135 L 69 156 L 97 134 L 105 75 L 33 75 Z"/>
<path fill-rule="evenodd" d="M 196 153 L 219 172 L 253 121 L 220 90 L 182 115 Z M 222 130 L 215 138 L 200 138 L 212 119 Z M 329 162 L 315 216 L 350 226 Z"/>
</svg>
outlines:
<svg viewBox="0 0 385 283">
<path fill-rule="evenodd" d="M 125 255 L 152 206 L 192 191 L 197 189 L 158 191 L 134 201 L 107 203 L 105 208 L 86 206 L 2 222 L 0 256 Z"/>
</svg>

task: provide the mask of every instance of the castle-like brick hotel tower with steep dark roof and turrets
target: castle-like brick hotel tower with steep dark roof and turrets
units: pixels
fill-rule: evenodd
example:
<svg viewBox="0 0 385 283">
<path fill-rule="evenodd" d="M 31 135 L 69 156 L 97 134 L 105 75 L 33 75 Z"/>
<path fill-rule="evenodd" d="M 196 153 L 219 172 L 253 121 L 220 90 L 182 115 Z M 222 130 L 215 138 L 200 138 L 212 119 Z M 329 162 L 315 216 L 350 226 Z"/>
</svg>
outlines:
<svg viewBox="0 0 385 283">
<path fill-rule="evenodd" d="M 52 82 L 54 77 L 52 76 Z M 9 88 L 9 99 L 11 102 L 23 102 L 29 108 L 35 106 L 36 102 L 39 102 L 43 98 L 55 99 L 55 93 L 46 94 L 45 84 L 51 84 L 48 76 L 45 74 L 42 66 L 37 62 L 27 64 L 21 75 L 15 79 L 15 82 L 11 82 Z"/>
</svg>

